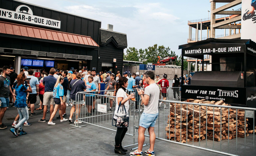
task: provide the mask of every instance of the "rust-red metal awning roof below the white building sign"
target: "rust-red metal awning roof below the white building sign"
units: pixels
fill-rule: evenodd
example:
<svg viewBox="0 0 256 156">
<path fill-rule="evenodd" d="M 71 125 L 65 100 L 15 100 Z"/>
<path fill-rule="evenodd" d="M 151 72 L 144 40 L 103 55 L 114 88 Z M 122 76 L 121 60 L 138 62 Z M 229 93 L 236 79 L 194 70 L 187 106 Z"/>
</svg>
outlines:
<svg viewBox="0 0 256 156">
<path fill-rule="evenodd" d="M 0 21 L 0 33 L 99 47 L 99 45 L 90 36 L 59 32 L 2 21 Z"/>
</svg>

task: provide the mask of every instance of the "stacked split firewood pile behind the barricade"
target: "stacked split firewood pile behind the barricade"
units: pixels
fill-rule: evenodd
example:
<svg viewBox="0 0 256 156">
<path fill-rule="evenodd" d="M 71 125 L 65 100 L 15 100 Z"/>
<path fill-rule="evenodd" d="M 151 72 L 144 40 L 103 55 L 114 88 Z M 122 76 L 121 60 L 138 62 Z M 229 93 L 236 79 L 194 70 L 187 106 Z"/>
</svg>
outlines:
<svg viewBox="0 0 256 156">
<path fill-rule="evenodd" d="M 211 104 L 211 105 L 222 105 L 231 106 L 225 104 L 223 100 L 220 101 L 206 101 L 187 99 L 185 102 L 201 103 L 201 104 Z M 176 109 L 175 109 L 176 106 Z M 176 111 L 175 111 L 176 110 Z M 194 113 L 193 113 L 194 110 Z M 207 113 L 206 113 L 207 110 Z M 238 112 L 233 109 L 222 108 L 222 107 L 209 107 L 209 106 L 199 106 L 199 105 L 186 105 L 186 104 L 174 104 L 170 105 L 170 115 L 168 116 L 168 125 L 166 127 L 167 139 L 172 139 L 176 137 L 176 141 L 182 140 L 186 142 L 189 140 L 194 140 L 195 142 L 199 140 L 207 139 L 214 141 L 221 141 L 223 139 L 234 139 L 238 131 L 237 136 L 240 138 L 248 136 L 248 124 L 245 125 L 245 110 L 238 109 Z M 175 120 L 176 113 L 176 120 Z M 236 116 L 238 120 L 236 120 Z M 170 117 L 170 120 L 169 120 Z M 207 120 L 206 120 L 207 119 Z M 175 131 L 175 121 L 176 121 L 176 136 Z M 248 121 L 248 118 L 246 118 Z M 207 126 L 206 126 L 207 122 Z M 187 123 L 187 124 L 186 124 Z M 245 132 L 246 126 L 246 132 Z M 186 129 L 187 128 L 187 129 Z M 207 134 L 206 134 L 207 129 Z M 169 132 L 170 131 L 170 132 Z M 256 132 L 256 127 L 255 127 Z M 249 133 L 253 133 L 250 130 Z M 194 135 L 193 135 L 194 134 Z M 187 136 L 186 136 L 187 135 Z M 187 140 L 186 140 L 187 138 Z"/>
</svg>

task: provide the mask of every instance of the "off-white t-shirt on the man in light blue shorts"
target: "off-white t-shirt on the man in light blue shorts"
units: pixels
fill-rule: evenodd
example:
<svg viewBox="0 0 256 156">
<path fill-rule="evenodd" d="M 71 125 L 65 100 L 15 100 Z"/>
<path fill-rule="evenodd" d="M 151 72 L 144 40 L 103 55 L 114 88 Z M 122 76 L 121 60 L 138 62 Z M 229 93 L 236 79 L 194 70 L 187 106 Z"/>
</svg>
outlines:
<svg viewBox="0 0 256 156">
<path fill-rule="evenodd" d="M 159 86 L 155 83 L 150 84 L 145 88 L 144 95 L 149 96 L 149 104 L 144 105 L 144 113 L 157 114 L 158 113 L 158 100 L 159 100 Z"/>
</svg>

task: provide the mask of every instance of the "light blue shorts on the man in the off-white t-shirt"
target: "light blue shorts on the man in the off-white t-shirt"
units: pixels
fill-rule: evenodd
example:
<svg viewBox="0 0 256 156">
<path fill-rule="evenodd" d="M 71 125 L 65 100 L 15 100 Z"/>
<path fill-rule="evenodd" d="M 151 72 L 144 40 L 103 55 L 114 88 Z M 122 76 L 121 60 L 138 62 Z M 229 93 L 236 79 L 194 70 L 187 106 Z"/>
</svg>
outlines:
<svg viewBox="0 0 256 156">
<path fill-rule="evenodd" d="M 158 113 L 157 114 L 147 114 L 147 113 L 142 113 L 141 118 L 139 119 L 139 126 L 142 126 L 144 128 L 149 128 L 149 127 L 154 127 L 155 126 L 155 121 L 158 118 Z"/>
</svg>

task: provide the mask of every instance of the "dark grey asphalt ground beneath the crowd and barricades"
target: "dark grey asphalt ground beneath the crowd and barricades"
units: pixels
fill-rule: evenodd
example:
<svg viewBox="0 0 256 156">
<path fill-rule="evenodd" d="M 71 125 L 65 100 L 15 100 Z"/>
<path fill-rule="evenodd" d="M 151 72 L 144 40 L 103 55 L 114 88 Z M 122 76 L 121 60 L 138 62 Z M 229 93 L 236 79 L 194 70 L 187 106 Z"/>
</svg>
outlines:
<svg viewBox="0 0 256 156">
<path fill-rule="evenodd" d="M 39 101 L 39 98 L 38 98 Z M 36 104 L 38 104 L 37 102 Z M 39 105 L 35 105 L 35 108 L 38 108 Z M 97 105 L 96 105 L 97 107 Z M 70 115 L 70 109 L 71 106 L 67 107 L 67 116 Z M 3 123 L 5 123 L 8 128 L 5 130 L 0 130 L 0 152 L 1 156 L 5 155 L 39 155 L 39 156 L 49 156 L 49 155 L 90 155 L 90 156 L 98 156 L 98 155 L 117 155 L 114 154 L 114 137 L 115 137 L 115 131 L 104 129 L 95 125 L 82 123 L 81 125 L 87 125 L 83 126 L 81 128 L 73 128 L 74 124 L 67 122 L 60 122 L 56 118 L 54 119 L 55 125 L 48 125 L 47 122 L 49 120 L 49 113 L 47 114 L 46 120 L 47 122 L 41 123 L 38 122 L 42 117 L 42 114 L 40 113 L 41 110 L 35 110 L 35 113 L 38 115 L 36 116 L 29 116 L 28 122 L 31 123 L 31 126 L 23 126 L 24 131 L 27 132 L 24 136 L 18 136 L 15 137 L 9 129 L 11 128 L 11 124 L 14 121 L 14 118 L 17 115 L 17 110 L 15 107 L 11 107 L 10 109 L 7 109 L 6 114 L 3 118 Z M 85 111 L 86 112 L 86 111 Z M 165 115 L 163 115 L 165 112 Z M 158 131 L 158 121 L 156 123 L 156 135 L 158 137 L 158 133 L 160 138 L 165 137 L 164 128 L 165 128 L 165 121 L 163 120 L 163 117 L 166 116 L 167 110 L 160 109 L 160 115 L 159 115 L 159 131 Z M 30 114 L 30 112 L 29 112 Z M 94 115 L 98 115 L 98 112 Z M 138 124 L 138 112 L 135 114 L 132 112 L 130 114 L 131 116 L 134 116 L 135 124 Z M 56 114 L 56 117 L 58 114 Z M 94 120 L 91 120 L 89 123 L 98 124 L 100 126 L 104 126 L 110 129 L 115 129 L 114 126 L 111 126 L 111 114 L 106 115 L 105 118 L 103 116 L 98 117 L 96 120 L 96 116 L 94 117 Z M 100 118 L 104 118 L 104 120 L 100 120 Z M 88 118 L 87 118 L 88 119 Z M 91 118 L 92 119 L 92 118 Z M 165 117 L 165 120 L 167 117 Z M 73 117 L 74 121 L 74 117 Z M 84 119 L 85 121 L 85 119 Z M 88 121 L 87 121 L 88 122 Z M 106 126 L 104 124 L 105 123 Z M 130 118 L 130 127 L 128 129 L 128 133 L 133 134 L 133 117 Z M 69 129 L 73 128 L 73 129 Z M 253 155 L 252 151 L 252 135 L 250 134 L 249 137 L 246 138 L 247 144 L 250 144 L 246 148 L 246 155 Z M 166 139 L 166 138 L 165 138 Z M 242 142 L 243 138 L 238 138 L 238 142 L 240 143 L 238 146 L 239 155 L 244 155 L 244 149 L 242 145 L 244 145 L 244 142 Z M 233 142 L 230 142 L 230 151 L 232 151 L 232 154 L 235 154 L 234 147 L 235 147 L 235 139 L 231 140 Z M 137 132 L 135 130 L 135 142 L 137 142 Z M 207 147 L 209 149 L 212 149 L 213 147 L 213 141 L 208 140 L 207 141 Z M 149 138 L 145 137 L 145 143 L 149 143 Z M 219 148 L 219 142 L 214 142 L 215 150 L 218 150 Z M 122 145 L 131 145 L 133 144 L 133 137 L 126 135 Z M 188 142 L 188 144 L 192 145 L 192 141 Z M 205 147 L 206 141 L 202 140 L 200 142 L 200 147 Z M 194 146 L 199 146 L 198 142 L 194 142 Z M 136 146 L 128 147 L 135 148 Z M 143 147 L 143 151 L 147 150 L 149 146 Z M 186 147 L 183 145 L 178 145 L 173 142 L 167 142 L 162 140 L 156 140 L 155 141 L 155 147 L 154 147 L 155 155 L 161 155 L 161 156 L 180 156 L 180 155 L 197 155 L 197 156 L 218 156 L 221 154 L 213 153 L 206 150 L 201 150 L 197 148 L 192 147 Z M 227 140 L 222 141 L 222 151 L 227 151 Z M 129 155 L 130 150 L 128 150 L 126 155 Z"/>
</svg>

